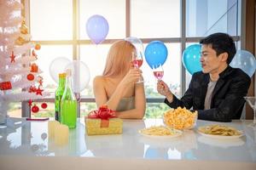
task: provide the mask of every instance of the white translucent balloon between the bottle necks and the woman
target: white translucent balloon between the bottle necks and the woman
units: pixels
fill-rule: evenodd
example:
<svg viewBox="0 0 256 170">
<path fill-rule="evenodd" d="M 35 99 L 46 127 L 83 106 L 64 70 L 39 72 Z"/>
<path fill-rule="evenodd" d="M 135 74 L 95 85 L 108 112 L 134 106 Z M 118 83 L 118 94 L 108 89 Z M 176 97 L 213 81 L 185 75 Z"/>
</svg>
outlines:
<svg viewBox="0 0 256 170">
<path fill-rule="evenodd" d="M 90 81 L 90 71 L 88 66 L 83 61 L 73 60 L 66 66 L 65 70 L 67 69 L 71 69 L 72 71 L 73 92 L 82 92 Z"/>
</svg>

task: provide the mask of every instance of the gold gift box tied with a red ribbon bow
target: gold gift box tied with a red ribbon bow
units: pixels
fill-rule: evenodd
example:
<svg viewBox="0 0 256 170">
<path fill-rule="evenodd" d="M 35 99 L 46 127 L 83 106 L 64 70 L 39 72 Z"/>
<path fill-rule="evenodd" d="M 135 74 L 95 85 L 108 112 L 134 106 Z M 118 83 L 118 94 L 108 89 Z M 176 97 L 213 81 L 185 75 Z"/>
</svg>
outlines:
<svg viewBox="0 0 256 170">
<path fill-rule="evenodd" d="M 107 106 L 90 111 L 84 122 L 87 135 L 123 133 L 123 121 L 116 118 L 115 111 L 109 110 Z"/>
</svg>

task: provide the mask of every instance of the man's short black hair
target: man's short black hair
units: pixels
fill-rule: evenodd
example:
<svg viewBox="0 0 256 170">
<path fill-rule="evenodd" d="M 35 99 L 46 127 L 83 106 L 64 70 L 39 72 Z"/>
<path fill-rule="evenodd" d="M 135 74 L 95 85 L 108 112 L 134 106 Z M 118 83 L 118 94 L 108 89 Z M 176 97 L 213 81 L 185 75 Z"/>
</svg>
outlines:
<svg viewBox="0 0 256 170">
<path fill-rule="evenodd" d="M 216 51 L 217 56 L 219 54 L 227 53 L 227 64 L 229 65 L 236 54 L 236 45 L 232 37 L 225 33 L 214 33 L 200 41 L 201 44 L 211 45 L 212 49 Z"/>
</svg>

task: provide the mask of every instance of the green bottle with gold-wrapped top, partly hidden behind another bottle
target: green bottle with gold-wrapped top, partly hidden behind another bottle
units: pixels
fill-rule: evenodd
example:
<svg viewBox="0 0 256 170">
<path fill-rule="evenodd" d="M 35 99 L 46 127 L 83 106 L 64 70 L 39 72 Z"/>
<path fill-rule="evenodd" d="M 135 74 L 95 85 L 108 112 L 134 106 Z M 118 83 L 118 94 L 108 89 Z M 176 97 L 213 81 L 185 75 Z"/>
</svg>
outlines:
<svg viewBox="0 0 256 170">
<path fill-rule="evenodd" d="M 61 98 L 66 84 L 66 73 L 59 74 L 59 86 L 55 91 L 55 120 L 61 122 Z"/>
</svg>

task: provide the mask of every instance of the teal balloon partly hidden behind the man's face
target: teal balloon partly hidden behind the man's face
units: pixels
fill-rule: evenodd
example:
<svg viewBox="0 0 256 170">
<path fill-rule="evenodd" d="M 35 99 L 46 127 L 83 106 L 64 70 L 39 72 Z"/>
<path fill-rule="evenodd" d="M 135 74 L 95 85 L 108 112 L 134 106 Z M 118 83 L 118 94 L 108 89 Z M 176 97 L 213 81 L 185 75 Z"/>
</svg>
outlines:
<svg viewBox="0 0 256 170">
<path fill-rule="evenodd" d="M 197 71 L 201 71 L 201 45 L 193 44 L 183 51 L 183 66 L 191 75 Z"/>
</svg>

